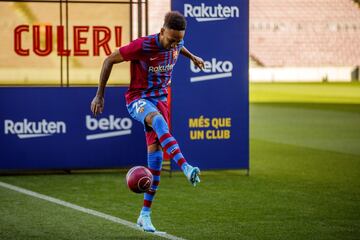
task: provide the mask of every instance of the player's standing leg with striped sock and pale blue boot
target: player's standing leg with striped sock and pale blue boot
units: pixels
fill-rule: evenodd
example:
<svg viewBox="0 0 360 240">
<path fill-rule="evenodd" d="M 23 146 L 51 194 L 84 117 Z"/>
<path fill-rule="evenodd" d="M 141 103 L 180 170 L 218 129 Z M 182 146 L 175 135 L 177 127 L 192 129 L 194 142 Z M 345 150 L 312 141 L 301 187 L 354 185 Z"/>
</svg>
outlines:
<svg viewBox="0 0 360 240">
<path fill-rule="evenodd" d="M 151 134 L 150 134 L 151 135 Z M 147 141 L 151 138 L 147 133 Z M 144 231 L 154 232 L 155 227 L 151 222 L 151 205 L 154 200 L 156 191 L 160 183 L 160 173 L 162 168 L 163 152 L 161 146 L 158 143 L 148 146 L 148 168 L 153 174 L 153 183 L 150 190 L 144 193 L 144 205 L 141 209 L 140 216 L 137 224 L 144 229 Z"/>
</svg>

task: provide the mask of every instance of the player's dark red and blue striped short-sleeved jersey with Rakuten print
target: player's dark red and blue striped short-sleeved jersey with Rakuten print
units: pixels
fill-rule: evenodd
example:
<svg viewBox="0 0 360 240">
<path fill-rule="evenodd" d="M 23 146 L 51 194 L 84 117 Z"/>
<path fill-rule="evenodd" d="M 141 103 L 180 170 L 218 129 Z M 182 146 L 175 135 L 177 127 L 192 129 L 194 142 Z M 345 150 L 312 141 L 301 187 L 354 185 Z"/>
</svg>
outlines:
<svg viewBox="0 0 360 240">
<path fill-rule="evenodd" d="M 125 61 L 130 63 L 130 87 L 125 94 L 126 104 L 139 98 L 167 95 L 171 73 L 184 41 L 174 48 L 160 45 L 159 34 L 138 38 L 119 49 Z"/>
</svg>

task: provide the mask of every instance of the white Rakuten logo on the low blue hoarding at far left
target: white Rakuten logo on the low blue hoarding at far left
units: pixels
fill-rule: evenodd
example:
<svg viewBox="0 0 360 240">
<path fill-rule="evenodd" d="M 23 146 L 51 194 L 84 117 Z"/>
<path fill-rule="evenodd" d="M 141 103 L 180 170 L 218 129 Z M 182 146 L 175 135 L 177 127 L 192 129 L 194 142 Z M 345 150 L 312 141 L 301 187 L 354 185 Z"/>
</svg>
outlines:
<svg viewBox="0 0 360 240">
<path fill-rule="evenodd" d="M 31 122 L 24 118 L 22 122 L 4 120 L 4 133 L 16 134 L 20 139 L 47 137 L 53 134 L 66 133 L 66 124 L 62 121 L 53 122 L 42 119 L 38 122 Z"/>
</svg>

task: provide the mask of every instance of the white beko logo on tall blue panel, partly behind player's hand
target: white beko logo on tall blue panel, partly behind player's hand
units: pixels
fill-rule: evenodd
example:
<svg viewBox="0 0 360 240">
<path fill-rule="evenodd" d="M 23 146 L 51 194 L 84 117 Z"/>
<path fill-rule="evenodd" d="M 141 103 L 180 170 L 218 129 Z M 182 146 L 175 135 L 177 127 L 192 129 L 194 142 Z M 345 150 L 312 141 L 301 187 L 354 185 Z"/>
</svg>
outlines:
<svg viewBox="0 0 360 240">
<path fill-rule="evenodd" d="M 211 61 L 204 61 L 203 70 L 196 67 L 194 63 L 190 61 L 190 69 L 193 73 L 199 73 L 201 71 L 207 73 L 203 76 L 196 76 L 190 78 L 190 82 L 199 82 L 231 77 L 233 64 L 230 61 L 218 61 L 216 58 L 212 58 Z"/>
</svg>

